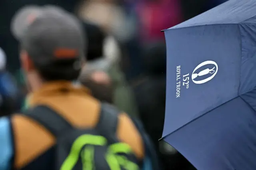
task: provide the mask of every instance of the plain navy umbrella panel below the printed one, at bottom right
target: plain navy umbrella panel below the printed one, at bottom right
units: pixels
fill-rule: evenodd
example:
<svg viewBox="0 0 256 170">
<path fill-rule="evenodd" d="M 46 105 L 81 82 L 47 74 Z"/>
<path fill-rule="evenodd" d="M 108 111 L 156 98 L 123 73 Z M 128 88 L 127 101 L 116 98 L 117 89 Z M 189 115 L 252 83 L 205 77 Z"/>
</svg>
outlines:
<svg viewBox="0 0 256 170">
<path fill-rule="evenodd" d="M 255 111 L 240 97 L 164 138 L 198 170 L 255 170 Z"/>
</svg>

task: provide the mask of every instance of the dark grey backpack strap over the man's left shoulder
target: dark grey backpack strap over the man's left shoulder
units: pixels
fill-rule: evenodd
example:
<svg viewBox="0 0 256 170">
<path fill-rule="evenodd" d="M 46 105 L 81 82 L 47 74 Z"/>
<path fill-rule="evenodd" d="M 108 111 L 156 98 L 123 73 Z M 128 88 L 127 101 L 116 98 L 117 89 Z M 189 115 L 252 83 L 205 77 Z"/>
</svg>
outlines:
<svg viewBox="0 0 256 170">
<path fill-rule="evenodd" d="M 55 137 L 73 128 L 68 121 L 47 106 L 30 108 L 24 115 L 43 125 Z"/>
</svg>

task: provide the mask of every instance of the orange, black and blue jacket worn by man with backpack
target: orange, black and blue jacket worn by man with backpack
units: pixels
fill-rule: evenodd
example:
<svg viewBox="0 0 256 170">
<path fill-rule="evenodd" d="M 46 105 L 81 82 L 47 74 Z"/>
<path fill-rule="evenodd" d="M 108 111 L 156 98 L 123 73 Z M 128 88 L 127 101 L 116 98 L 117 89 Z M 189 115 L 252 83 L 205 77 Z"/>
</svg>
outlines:
<svg viewBox="0 0 256 170">
<path fill-rule="evenodd" d="M 66 81 L 44 84 L 29 96 L 28 105 L 48 106 L 77 128 L 95 127 L 100 114 L 100 102 L 88 89 Z M 140 132 L 125 113 L 118 118 L 119 140 L 129 144 L 139 160 L 145 160 Z M 0 118 L 0 136 L 0 170 L 51 170 L 54 167 L 56 138 L 34 120 L 22 114 Z"/>
</svg>

